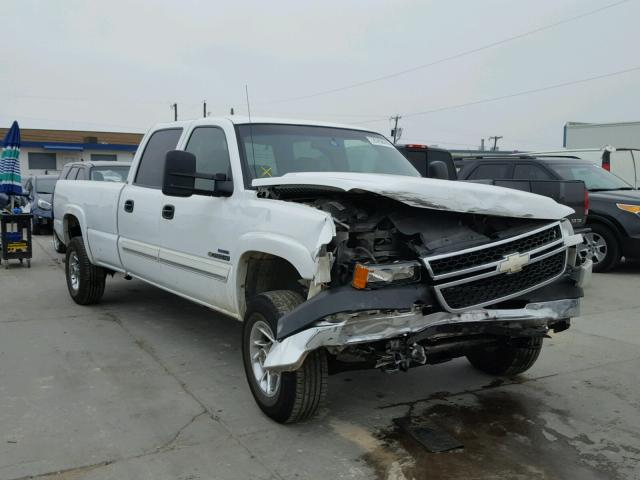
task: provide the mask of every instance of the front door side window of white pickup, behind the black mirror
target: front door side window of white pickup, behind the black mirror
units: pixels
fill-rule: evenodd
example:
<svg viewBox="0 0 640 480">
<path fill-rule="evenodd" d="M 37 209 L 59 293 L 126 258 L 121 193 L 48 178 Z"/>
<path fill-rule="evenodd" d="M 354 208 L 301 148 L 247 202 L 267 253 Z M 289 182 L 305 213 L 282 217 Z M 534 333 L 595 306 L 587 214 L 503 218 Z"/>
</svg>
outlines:
<svg viewBox="0 0 640 480">
<path fill-rule="evenodd" d="M 220 128 L 195 128 L 189 137 L 185 150 L 196 156 L 196 172 L 210 175 L 224 173 L 227 179 L 231 179 L 227 137 Z M 213 181 L 196 178 L 195 188 L 213 190 Z"/>
</svg>

